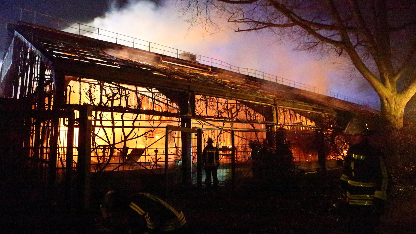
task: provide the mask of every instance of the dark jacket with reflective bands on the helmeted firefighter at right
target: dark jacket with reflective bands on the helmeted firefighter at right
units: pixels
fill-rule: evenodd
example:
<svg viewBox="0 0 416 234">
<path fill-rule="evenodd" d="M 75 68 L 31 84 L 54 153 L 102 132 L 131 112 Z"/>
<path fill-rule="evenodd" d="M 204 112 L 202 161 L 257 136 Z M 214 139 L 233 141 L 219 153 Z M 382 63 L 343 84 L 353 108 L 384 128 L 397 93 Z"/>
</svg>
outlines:
<svg viewBox="0 0 416 234">
<path fill-rule="evenodd" d="M 386 200 L 389 174 L 381 150 L 370 145 L 368 140 L 351 145 L 341 182 L 349 204 L 373 205 L 374 198 Z"/>
</svg>

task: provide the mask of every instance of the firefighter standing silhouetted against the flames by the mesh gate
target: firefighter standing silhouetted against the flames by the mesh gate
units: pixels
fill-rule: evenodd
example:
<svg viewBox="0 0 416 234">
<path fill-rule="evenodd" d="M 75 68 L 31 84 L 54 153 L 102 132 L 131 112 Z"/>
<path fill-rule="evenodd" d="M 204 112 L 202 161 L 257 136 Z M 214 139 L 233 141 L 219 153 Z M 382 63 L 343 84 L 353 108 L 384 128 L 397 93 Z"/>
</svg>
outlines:
<svg viewBox="0 0 416 234">
<path fill-rule="evenodd" d="M 202 161 L 204 163 L 206 176 L 205 184 L 208 189 L 211 187 L 211 174 L 214 188 L 218 187 L 217 169 L 220 165 L 220 155 L 218 153 L 218 148 L 212 145 L 213 143 L 214 140 L 212 138 L 208 138 L 207 146 L 202 152 Z"/>
</svg>

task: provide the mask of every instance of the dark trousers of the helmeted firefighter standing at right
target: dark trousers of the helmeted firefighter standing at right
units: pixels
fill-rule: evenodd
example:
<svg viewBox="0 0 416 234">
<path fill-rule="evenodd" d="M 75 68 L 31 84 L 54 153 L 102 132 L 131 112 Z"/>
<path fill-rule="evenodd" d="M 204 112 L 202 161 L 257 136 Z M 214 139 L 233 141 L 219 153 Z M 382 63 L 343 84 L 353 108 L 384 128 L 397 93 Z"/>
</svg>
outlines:
<svg viewBox="0 0 416 234">
<path fill-rule="evenodd" d="M 349 233 L 371 234 L 379 225 L 380 212 L 374 212 L 372 205 L 345 204 L 342 216 Z"/>
</svg>

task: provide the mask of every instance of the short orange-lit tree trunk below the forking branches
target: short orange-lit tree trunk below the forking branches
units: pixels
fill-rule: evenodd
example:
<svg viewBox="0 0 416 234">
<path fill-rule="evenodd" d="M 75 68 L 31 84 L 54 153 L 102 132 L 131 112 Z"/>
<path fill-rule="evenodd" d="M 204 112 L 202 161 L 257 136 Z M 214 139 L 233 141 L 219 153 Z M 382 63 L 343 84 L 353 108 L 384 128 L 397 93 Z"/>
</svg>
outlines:
<svg viewBox="0 0 416 234">
<path fill-rule="evenodd" d="M 404 107 L 409 100 L 398 95 L 380 97 L 381 115 L 386 123 L 396 129 L 403 127 Z"/>
</svg>

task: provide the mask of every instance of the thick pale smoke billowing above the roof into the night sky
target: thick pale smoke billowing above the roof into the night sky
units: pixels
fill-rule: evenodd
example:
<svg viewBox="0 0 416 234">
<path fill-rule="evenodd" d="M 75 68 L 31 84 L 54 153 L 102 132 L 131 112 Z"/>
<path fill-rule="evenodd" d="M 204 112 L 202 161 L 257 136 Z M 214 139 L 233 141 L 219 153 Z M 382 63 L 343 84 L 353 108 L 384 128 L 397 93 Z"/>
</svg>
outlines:
<svg viewBox="0 0 416 234">
<path fill-rule="evenodd" d="M 189 24 L 178 19 L 179 15 L 171 1 L 156 6 L 154 2 L 133 0 L 121 9 L 111 7 L 103 17 L 95 18 L 88 25 L 212 57 L 237 67 L 264 71 L 363 101 L 377 100 L 366 81 L 353 79 L 348 82 L 343 79 L 344 72 L 332 59 L 316 60 L 313 54 L 295 52 L 295 45 L 290 42 L 272 43 L 273 38 L 267 34 L 236 33 L 226 23 L 221 27 L 223 31 L 214 34 L 206 33 L 201 27 L 188 30 Z"/>
</svg>

